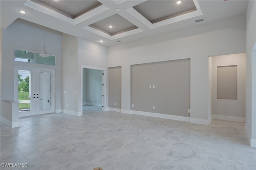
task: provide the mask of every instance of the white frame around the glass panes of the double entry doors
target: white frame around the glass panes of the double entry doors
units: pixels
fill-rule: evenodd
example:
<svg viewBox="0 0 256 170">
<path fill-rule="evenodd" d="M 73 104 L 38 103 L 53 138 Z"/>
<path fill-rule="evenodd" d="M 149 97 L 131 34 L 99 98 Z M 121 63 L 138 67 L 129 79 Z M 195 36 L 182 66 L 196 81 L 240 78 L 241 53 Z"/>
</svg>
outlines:
<svg viewBox="0 0 256 170">
<path fill-rule="evenodd" d="M 35 103 L 35 110 L 33 115 L 41 115 L 41 114 L 47 114 L 47 113 L 54 113 L 54 109 L 55 109 L 55 69 L 50 69 L 50 68 L 44 68 L 44 67 L 28 67 L 28 66 L 22 66 L 22 65 L 15 65 L 14 66 L 14 100 L 18 101 L 18 70 L 34 70 L 34 73 L 36 75 L 37 71 L 50 71 L 51 74 L 51 107 L 50 109 L 46 110 L 46 111 L 40 111 L 40 109 L 36 109 L 36 107 L 39 107 L 40 102 L 37 105 L 37 103 Z M 35 85 L 37 85 L 36 80 L 38 80 L 38 78 L 34 77 L 34 81 L 35 81 Z M 35 89 L 35 93 L 36 90 L 38 90 L 37 88 Z M 39 93 L 39 92 L 37 92 Z M 32 102 L 31 102 L 32 103 Z M 32 109 L 32 105 L 30 107 Z M 25 117 L 25 116 L 30 116 L 31 114 L 24 114 L 22 116 L 19 117 Z"/>
</svg>

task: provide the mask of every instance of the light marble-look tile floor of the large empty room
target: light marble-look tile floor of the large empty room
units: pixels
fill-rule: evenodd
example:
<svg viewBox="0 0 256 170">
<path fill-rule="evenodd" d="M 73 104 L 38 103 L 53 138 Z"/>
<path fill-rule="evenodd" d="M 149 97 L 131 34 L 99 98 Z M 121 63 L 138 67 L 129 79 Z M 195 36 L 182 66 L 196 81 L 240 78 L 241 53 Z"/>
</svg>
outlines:
<svg viewBox="0 0 256 170">
<path fill-rule="evenodd" d="M 91 111 L 23 117 L 18 128 L 0 128 L 1 165 L 28 164 L 20 169 L 256 169 L 244 123 L 212 120 L 206 126 Z"/>
</svg>

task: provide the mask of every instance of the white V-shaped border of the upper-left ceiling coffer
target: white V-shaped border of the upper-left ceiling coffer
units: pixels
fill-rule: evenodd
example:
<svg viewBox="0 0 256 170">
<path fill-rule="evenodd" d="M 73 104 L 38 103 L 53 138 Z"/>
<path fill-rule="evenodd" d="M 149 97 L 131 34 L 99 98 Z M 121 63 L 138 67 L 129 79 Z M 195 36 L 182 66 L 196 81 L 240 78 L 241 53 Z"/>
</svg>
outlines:
<svg viewBox="0 0 256 170">
<path fill-rule="evenodd" d="M 68 22 L 70 24 L 73 24 L 73 25 L 76 25 L 76 24 L 79 24 L 81 22 L 84 22 L 85 20 L 88 20 L 89 18 L 92 18 L 98 14 L 101 14 L 102 12 L 105 12 L 106 10 L 109 10 L 109 8 L 107 6 L 105 6 L 104 4 L 86 12 L 85 14 L 82 14 L 81 16 L 78 16 L 77 18 L 69 18 L 68 16 L 65 16 L 59 12 L 56 12 L 50 8 L 47 8 L 45 6 L 42 6 L 36 2 L 33 2 L 33 1 L 30 1 L 30 0 L 27 0 L 25 3 L 24 3 L 25 6 L 28 6 L 30 8 L 33 8 L 35 10 L 38 10 L 40 12 L 43 12 L 45 14 L 48 14 L 52 17 L 55 17 L 55 18 L 58 18 L 62 21 L 65 21 L 65 22 Z"/>
</svg>

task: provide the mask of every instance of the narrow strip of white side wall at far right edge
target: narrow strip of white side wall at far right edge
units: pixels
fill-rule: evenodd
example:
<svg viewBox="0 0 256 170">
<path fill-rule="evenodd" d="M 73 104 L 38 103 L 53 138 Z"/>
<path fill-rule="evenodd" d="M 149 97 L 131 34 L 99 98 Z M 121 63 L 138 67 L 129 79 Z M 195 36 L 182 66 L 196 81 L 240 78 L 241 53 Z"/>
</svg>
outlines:
<svg viewBox="0 0 256 170">
<path fill-rule="evenodd" d="M 246 132 L 251 146 L 254 147 L 256 147 L 256 92 L 252 89 L 255 89 L 256 65 L 252 61 L 255 61 L 256 56 L 252 55 L 252 49 L 255 44 L 256 1 L 250 0 L 246 12 Z"/>
</svg>

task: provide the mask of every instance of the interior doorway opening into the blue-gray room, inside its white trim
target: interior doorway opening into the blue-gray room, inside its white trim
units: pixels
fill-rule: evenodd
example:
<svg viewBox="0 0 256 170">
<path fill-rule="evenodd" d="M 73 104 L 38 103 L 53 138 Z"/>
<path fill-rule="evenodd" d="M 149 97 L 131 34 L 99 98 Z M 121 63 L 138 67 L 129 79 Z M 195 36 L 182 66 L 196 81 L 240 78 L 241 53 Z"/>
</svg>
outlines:
<svg viewBox="0 0 256 170">
<path fill-rule="evenodd" d="M 104 110 L 104 70 L 82 68 L 82 111 Z"/>
</svg>

